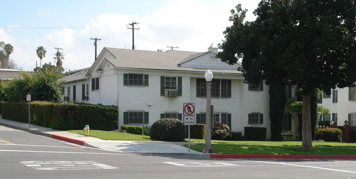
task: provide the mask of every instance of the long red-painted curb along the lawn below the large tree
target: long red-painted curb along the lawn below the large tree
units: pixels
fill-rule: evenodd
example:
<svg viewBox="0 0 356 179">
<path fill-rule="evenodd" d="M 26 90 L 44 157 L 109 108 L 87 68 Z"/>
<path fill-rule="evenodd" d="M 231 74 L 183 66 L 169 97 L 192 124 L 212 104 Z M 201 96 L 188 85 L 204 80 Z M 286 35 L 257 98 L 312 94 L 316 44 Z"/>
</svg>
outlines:
<svg viewBox="0 0 356 179">
<path fill-rule="evenodd" d="M 290 159 L 356 159 L 356 155 L 312 155 L 312 154 L 210 154 L 210 158 L 290 158 Z"/>
</svg>

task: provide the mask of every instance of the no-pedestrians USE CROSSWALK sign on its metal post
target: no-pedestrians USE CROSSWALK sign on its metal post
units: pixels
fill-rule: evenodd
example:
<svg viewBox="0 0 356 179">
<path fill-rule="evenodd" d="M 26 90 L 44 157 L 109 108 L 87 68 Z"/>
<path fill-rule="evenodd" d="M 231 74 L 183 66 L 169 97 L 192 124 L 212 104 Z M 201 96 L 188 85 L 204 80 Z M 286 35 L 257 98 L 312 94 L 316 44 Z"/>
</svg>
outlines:
<svg viewBox="0 0 356 179">
<path fill-rule="evenodd" d="M 195 104 L 184 103 L 183 104 L 183 124 L 188 126 L 188 152 L 190 152 L 190 126 L 195 125 Z"/>
</svg>

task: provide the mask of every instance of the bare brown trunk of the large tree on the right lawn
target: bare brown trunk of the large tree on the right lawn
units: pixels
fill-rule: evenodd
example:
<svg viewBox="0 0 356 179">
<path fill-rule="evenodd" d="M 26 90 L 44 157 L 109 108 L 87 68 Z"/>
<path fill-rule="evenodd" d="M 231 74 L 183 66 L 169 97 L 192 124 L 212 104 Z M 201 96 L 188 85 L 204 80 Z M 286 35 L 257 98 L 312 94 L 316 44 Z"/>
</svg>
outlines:
<svg viewBox="0 0 356 179">
<path fill-rule="evenodd" d="M 310 118 L 310 93 L 303 94 L 303 129 L 302 129 L 302 149 L 313 149 L 312 144 L 312 121 Z"/>
</svg>

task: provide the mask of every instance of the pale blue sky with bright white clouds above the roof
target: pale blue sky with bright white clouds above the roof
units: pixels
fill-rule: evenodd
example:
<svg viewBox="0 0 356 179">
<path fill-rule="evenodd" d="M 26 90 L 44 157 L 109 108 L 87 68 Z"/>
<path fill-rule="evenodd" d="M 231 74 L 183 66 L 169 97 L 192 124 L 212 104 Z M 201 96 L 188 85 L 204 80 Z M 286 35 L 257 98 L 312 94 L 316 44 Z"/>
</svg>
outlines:
<svg viewBox="0 0 356 179">
<path fill-rule="evenodd" d="M 63 0 L 2 1 L 0 41 L 14 46 L 10 58 L 23 70 L 40 64 L 36 48 L 47 50 L 43 63 L 52 62 L 56 49 L 63 48 L 63 67 L 68 70 L 90 67 L 94 62 L 93 40 L 98 54 L 104 47 L 132 48 L 135 25 L 135 49 L 156 51 L 167 46 L 174 50 L 205 52 L 211 43 L 223 40 L 223 31 L 231 26 L 231 9 L 237 4 L 248 9 L 246 20 L 259 0 Z M 130 26 L 131 27 L 131 26 Z"/>
</svg>

